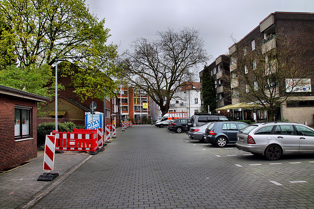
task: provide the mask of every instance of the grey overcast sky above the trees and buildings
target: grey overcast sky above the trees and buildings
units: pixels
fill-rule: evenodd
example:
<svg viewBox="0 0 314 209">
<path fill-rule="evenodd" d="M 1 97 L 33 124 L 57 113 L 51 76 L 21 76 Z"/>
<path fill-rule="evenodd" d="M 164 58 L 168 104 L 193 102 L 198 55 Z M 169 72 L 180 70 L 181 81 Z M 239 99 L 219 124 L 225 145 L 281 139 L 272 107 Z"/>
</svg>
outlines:
<svg viewBox="0 0 314 209">
<path fill-rule="evenodd" d="M 183 26 L 200 31 L 212 59 L 228 54 L 233 36 L 241 40 L 270 13 L 314 12 L 314 0 L 86 0 L 90 13 L 112 35 L 109 43 L 119 45 L 119 53 L 136 38 L 156 39 L 167 27 Z"/>
</svg>

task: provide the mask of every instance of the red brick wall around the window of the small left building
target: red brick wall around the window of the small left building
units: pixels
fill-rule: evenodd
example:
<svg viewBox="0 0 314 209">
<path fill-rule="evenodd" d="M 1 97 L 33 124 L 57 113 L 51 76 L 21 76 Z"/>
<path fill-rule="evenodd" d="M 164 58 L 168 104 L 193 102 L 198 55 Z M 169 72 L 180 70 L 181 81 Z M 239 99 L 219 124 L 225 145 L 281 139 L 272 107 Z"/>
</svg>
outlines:
<svg viewBox="0 0 314 209">
<path fill-rule="evenodd" d="M 33 139 L 15 141 L 15 105 L 32 107 L 30 135 Z M 37 157 L 36 102 L 14 96 L 0 95 L 0 170 Z"/>
</svg>

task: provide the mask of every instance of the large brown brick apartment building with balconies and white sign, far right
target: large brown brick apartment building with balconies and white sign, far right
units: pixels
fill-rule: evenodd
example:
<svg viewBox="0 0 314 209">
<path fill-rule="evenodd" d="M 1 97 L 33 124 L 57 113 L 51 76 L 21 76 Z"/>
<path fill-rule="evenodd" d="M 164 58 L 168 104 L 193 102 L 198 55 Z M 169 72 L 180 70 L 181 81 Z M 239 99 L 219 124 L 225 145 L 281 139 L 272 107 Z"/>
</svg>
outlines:
<svg viewBox="0 0 314 209">
<path fill-rule="evenodd" d="M 314 13 L 274 12 L 231 46 L 229 55 L 232 104 L 252 103 L 253 98 L 246 97 L 246 95 L 253 95 L 252 92 L 274 93 L 273 97 L 282 99 L 288 97 L 288 99 L 280 105 L 280 108 L 274 110 L 271 119 L 285 118 L 314 125 L 313 34 Z M 285 51 L 285 46 L 290 44 L 291 46 L 294 44 L 294 47 Z M 254 59 L 253 56 L 258 55 L 259 57 Z M 289 66 L 286 62 L 293 65 Z M 286 72 L 280 69 L 285 67 Z M 256 73 L 258 68 L 264 68 L 263 76 L 258 77 Z M 292 68 L 299 73 L 297 77 L 288 73 Z M 285 80 L 279 80 L 279 77 L 284 77 Z M 256 94 L 255 98 L 258 96 Z M 261 120 L 270 117 L 269 111 L 252 107 L 234 109 L 234 113 L 235 116 L 242 116 L 244 119 L 252 118 L 253 113 L 256 113 L 257 119 Z"/>
</svg>

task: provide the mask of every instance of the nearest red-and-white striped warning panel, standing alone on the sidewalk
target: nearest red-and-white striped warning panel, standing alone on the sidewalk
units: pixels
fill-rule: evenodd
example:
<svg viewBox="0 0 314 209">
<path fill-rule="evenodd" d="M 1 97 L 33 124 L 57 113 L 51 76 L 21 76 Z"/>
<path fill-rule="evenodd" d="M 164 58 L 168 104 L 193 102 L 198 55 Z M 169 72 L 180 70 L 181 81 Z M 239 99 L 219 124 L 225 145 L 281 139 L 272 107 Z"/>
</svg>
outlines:
<svg viewBox="0 0 314 209">
<path fill-rule="evenodd" d="M 51 172 L 53 170 L 54 145 L 55 145 L 55 136 L 46 135 L 44 166 L 43 166 L 43 170 L 46 172 Z"/>
</svg>

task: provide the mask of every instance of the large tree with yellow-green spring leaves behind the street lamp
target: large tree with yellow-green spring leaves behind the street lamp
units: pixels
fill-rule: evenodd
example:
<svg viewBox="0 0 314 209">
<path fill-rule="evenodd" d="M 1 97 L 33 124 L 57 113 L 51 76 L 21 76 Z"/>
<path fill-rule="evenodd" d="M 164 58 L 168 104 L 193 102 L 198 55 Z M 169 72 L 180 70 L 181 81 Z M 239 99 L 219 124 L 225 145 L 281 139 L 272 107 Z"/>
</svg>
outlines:
<svg viewBox="0 0 314 209">
<path fill-rule="evenodd" d="M 118 71 L 117 45 L 105 44 L 110 36 L 105 20 L 91 15 L 84 0 L 1 0 L 0 13 L 14 33 L 13 53 L 19 67 L 52 66 L 56 58 L 66 58 L 74 65 L 60 68 L 60 76 L 74 76 L 71 85 L 77 93 L 104 98 L 104 89 L 112 84 L 107 77 Z"/>
</svg>

